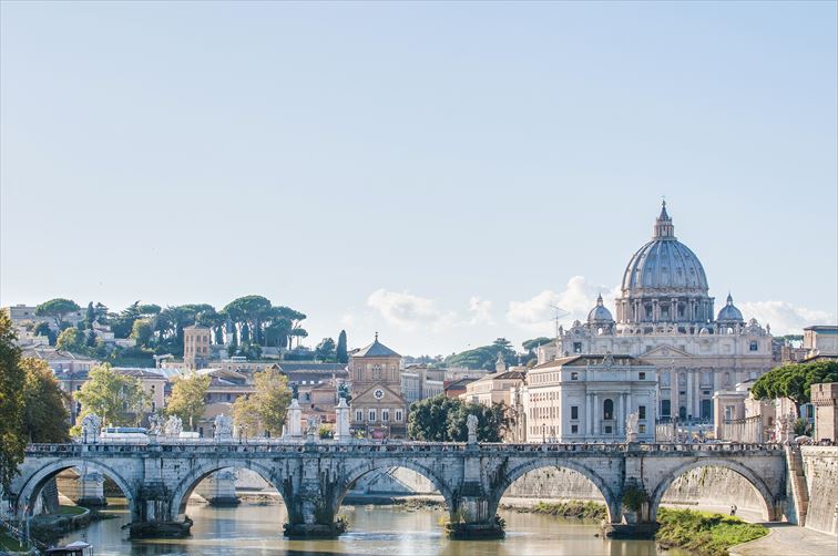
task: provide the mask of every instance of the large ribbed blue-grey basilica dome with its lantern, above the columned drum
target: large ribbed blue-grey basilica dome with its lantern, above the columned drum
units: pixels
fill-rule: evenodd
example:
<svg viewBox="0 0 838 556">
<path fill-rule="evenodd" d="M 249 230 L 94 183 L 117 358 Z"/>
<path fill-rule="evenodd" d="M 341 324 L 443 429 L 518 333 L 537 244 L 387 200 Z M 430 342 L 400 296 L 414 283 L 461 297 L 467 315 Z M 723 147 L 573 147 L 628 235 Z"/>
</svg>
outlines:
<svg viewBox="0 0 838 556">
<path fill-rule="evenodd" d="M 707 295 L 707 275 L 701 260 L 675 238 L 674 231 L 664 202 L 654 237 L 637 249 L 623 272 L 624 296 Z"/>
</svg>

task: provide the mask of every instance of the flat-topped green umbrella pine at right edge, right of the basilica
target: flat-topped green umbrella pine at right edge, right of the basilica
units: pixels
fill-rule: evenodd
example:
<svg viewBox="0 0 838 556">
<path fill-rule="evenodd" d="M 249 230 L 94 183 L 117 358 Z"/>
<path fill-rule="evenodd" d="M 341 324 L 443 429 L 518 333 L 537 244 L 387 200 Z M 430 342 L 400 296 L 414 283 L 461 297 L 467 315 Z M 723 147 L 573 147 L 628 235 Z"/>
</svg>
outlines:
<svg viewBox="0 0 838 556">
<path fill-rule="evenodd" d="M 754 382 L 750 395 L 755 400 L 788 398 L 795 403 L 797 415 L 800 415 L 800 405 L 811 401 L 811 385 L 820 382 L 838 382 L 838 361 L 777 367 Z"/>
</svg>

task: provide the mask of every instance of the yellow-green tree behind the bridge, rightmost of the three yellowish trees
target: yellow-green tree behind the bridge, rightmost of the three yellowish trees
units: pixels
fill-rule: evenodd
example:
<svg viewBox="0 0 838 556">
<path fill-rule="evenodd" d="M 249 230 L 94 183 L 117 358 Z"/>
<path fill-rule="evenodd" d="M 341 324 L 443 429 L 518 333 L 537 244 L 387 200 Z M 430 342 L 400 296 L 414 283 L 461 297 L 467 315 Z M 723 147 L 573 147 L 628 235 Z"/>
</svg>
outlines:
<svg viewBox="0 0 838 556">
<path fill-rule="evenodd" d="M 254 373 L 253 382 L 254 393 L 236 400 L 233 418 L 239 425 L 247 424 L 251 431 L 259 428 L 277 436 L 283 432 L 285 412 L 292 398 L 288 378 L 276 369 L 265 369 Z"/>
</svg>

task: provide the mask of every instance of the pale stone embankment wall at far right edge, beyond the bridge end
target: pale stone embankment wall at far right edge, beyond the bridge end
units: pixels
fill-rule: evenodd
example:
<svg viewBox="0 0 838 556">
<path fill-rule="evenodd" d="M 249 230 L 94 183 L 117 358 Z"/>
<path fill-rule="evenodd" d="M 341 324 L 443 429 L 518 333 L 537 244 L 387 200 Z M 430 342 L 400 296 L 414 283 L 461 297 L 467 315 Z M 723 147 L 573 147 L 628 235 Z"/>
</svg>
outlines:
<svg viewBox="0 0 838 556">
<path fill-rule="evenodd" d="M 809 490 L 808 528 L 838 535 L 838 446 L 800 449 Z"/>
</svg>

